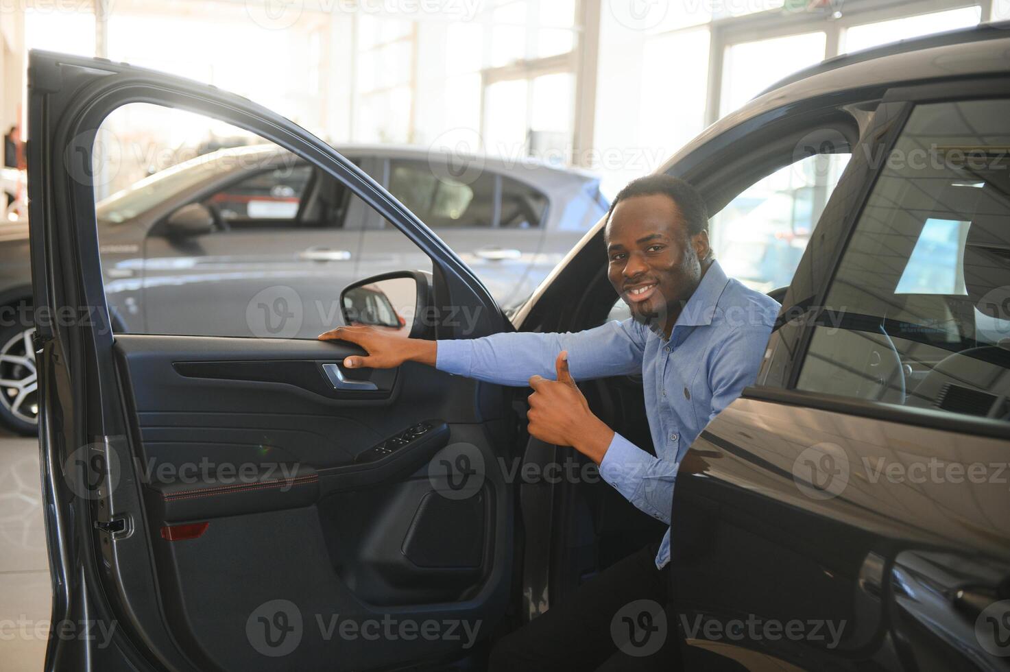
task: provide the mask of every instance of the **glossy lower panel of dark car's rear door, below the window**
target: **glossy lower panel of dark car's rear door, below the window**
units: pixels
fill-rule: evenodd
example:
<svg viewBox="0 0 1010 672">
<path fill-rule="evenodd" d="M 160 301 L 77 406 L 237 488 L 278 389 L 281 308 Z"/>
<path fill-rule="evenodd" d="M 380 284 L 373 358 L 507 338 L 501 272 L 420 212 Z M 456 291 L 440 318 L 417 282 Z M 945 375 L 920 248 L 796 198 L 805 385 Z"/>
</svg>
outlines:
<svg viewBox="0 0 1010 672">
<path fill-rule="evenodd" d="M 748 390 L 709 424 L 692 446 L 706 456 L 704 472 L 678 480 L 674 596 L 687 643 L 709 646 L 709 620 L 749 618 L 756 630 L 715 639 L 723 655 L 739 658 L 745 654 L 731 650 L 745 649 L 810 670 L 905 669 L 892 656 L 921 659 L 919 644 L 931 640 L 935 649 L 947 640 L 941 658 L 957 664 L 946 669 L 976 669 L 969 661 L 986 659 L 981 648 L 953 655 L 977 642 L 953 635 L 971 633 L 978 615 L 958 608 L 956 595 L 968 586 L 995 595 L 1010 577 L 1000 560 L 1010 539 L 1006 489 L 968 479 L 953 489 L 896 487 L 875 466 L 884 451 L 888 461 L 908 459 L 882 443 L 887 437 L 903 436 L 905 450 L 966 473 L 1004 460 L 1006 442 L 804 408 L 798 397 L 784 403 L 759 392 Z M 820 467 L 808 480 L 802 461 L 823 455 L 834 471 Z M 783 633 L 787 623 L 803 626 L 787 638 L 768 635 L 767 622 Z M 945 635 L 924 638 L 916 634 L 922 629 Z"/>
</svg>

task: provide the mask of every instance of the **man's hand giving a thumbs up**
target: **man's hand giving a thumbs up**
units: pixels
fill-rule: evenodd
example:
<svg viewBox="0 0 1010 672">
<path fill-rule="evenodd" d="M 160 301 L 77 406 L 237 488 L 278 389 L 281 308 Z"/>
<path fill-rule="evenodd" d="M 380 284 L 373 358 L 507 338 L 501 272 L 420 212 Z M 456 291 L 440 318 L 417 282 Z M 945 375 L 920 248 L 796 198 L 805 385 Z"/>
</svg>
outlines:
<svg viewBox="0 0 1010 672">
<path fill-rule="evenodd" d="M 533 437 L 556 446 L 572 446 L 597 464 L 614 438 L 614 431 L 593 414 L 582 391 L 569 371 L 568 352 L 554 361 L 557 380 L 542 376 L 529 379 L 528 430 Z"/>
</svg>

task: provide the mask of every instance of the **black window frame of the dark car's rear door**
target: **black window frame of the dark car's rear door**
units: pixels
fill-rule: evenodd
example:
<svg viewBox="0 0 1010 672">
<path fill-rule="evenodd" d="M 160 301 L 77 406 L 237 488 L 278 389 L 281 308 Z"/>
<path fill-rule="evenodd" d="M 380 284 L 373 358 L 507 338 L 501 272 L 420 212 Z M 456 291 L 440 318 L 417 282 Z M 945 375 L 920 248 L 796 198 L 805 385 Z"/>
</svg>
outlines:
<svg viewBox="0 0 1010 672">
<path fill-rule="evenodd" d="M 780 313 L 769 342 L 768 354 L 759 373 L 759 382 L 743 390 L 741 394 L 743 398 L 765 399 L 965 434 L 1007 437 L 1010 427 L 1004 420 L 883 401 L 869 401 L 840 394 L 800 390 L 796 387 L 814 329 L 823 321 L 824 299 L 834 283 L 870 195 L 877 186 L 877 181 L 887 163 L 878 160 L 875 162 L 876 165 L 872 165 L 868 154 L 889 157 L 912 110 L 919 105 L 994 98 L 1010 99 L 1010 76 L 993 75 L 978 79 L 894 87 L 888 90 L 875 113 L 873 123 L 860 140 L 863 148 L 872 141 L 872 152 L 864 150 L 853 153 L 846 173 L 839 181 L 818 222 L 818 230 L 822 233 L 830 229 L 831 233 L 837 236 L 836 242 L 832 242 L 833 250 L 829 259 L 815 259 L 818 251 L 813 247 L 808 247 L 804 253 L 790 285 L 789 296 L 794 299 L 797 296 L 805 298 Z M 832 243 L 822 245 L 830 248 Z M 821 268 L 820 273 L 816 269 L 818 265 Z M 796 309 L 792 310 L 793 308 Z M 786 361 L 777 363 L 777 358 Z"/>
</svg>

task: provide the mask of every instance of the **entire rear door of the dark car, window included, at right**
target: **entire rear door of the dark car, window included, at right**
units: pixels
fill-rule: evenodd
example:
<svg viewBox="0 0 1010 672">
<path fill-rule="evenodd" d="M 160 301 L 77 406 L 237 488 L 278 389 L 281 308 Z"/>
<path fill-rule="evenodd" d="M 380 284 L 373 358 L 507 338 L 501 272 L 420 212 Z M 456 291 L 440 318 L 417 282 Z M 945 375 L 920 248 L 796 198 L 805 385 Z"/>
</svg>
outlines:
<svg viewBox="0 0 1010 672">
<path fill-rule="evenodd" d="M 898 141 L 919 104 L 950 102 L 956 119 L 971 111 L 962 100 L 987 103 L 1006 95 L 1006 80 L 994 78 L 891 91 L 877 106 L 784 297 L 758 386 L 745 389 L 692 445 L 702 459 L 697 473 L 678 476 L 673 595 L 681 633 L 693 648 L 717 650 L 748 669 L 768 669 L 746 662 L 755 653 L 792 669 L 1006 669 L 1005 653 L 994 655 L 985 630 L 995 623 L 985 620 L 985 609 L 992 605 L 996 616 L 1003 605 L 1005 614 L 1010 603 L 1010 494 L 1000 471 L 1006 422 L 946 412 L 935 395 L 925 395 L 926 403 L 912 398 L 927 377 L 922 367 L 931 370 L 936 358 L 917 362 L 916 372 L 900 358 L 898 349 L 909 348 L 898 337 L 922 329 L 919 322 L 952 319 L 942 308 L 944 292 L 897 291 L 918 233 L 878 217 L 886 210 L 905 214 L 906 224 L 926 221 L 936 216 L 932 210 L 908 212 L 902 197 L 945 195 L 962 185 L 942 172 L 946 164 L 905 174 L 873 160 L 907 156 Z M 1005 115 L 993 118 L 977 145 L 997 143 L 989 138 L 1005 134 Z M 981 132 L 944 119 L 937 116 L 928 133 L 913 127 L 914 139 L 902 147 L 961 147 Z M 927 178 L 934 192 L 918 184 Z M 991 188 L 991 180 L 978 180 L 964 190 L 968 195 Z M 882 184 L 893 189 L 891 198 L 873 209 L 868 204 Z M 943 200 L 948 219 L 976 219 L 963 200 Z M 879 224 L 887 244 L 858 237 L 863 217 Z M 866 263 L 843 274 L 849 250 L 863 253 L 856 258 Z M 961 259 L 966 274 L 972 270 L 965 258 L 951 258 Z M 1005 266 L 988 268 L 995 273 Z M 844 306 L 835 305 L 835 283 L 858 289 L 862 282 L 871 288 L 866 296 L 853 293 L 840 301 Z M 950 298 L 964 303 L 969 297 Z M 887 310 L 877 312 L 877 300 Z M 921 318 L 904 316 L 906 304 Z M 946 320 L 933 319 L 944 314 Z M 815 350 L 822 338 L 839 345 Z M 809 383 L 825 369 L 818 386 Z M 994 385 L 999 369 L 990 364 L 985 371 L 985 384 Z M 974 478 L 968 476 L 973 469 Z M 709 622 L 714 626 L 706 633 Z M 741 623 L 738 632 L 729 629 L 734 622 Z M 790 623 L 793 637 L 787 636 Z M 1004 646 L 998 637 L 995 644 Z"/>
</svg>

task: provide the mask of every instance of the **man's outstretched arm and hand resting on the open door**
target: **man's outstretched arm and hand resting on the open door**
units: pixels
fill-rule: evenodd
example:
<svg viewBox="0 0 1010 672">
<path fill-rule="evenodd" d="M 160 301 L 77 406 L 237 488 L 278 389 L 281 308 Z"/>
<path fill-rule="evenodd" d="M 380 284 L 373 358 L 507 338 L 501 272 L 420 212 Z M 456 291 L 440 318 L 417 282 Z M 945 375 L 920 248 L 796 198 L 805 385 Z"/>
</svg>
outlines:
<svg viewBox="0 0 1010 672">
<path fill-rule="evenodd" d="M 575 333 L 496 333 L 482 339 L 420 341 L 368 326 L 341 326 L 319 337 L 347 341 L 368 351 L 344 360 L 348 368 L 388 369 L 404 362 L 499 385 L 525 386 L 532 376 L 552 377 L 559 353 L 567 351 L 576 380 L 641 371 L 645 334 L 627 319 Z"/>
</svg>

